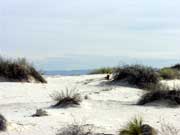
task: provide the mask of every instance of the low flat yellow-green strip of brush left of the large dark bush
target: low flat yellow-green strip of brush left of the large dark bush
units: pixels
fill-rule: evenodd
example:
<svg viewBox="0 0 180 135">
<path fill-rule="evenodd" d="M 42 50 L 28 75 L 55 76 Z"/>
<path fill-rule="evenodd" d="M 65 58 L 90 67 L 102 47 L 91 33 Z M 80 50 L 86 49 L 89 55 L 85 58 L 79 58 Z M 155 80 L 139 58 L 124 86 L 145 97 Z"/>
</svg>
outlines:
<svg viewBox="0 0 180 135">
<path fill-rule="evenodd" d="M 99 69 L 94 69 L 89 74 L 112 74 L 115 69 L 115 67 L 103 67 Z"/>
</svg>

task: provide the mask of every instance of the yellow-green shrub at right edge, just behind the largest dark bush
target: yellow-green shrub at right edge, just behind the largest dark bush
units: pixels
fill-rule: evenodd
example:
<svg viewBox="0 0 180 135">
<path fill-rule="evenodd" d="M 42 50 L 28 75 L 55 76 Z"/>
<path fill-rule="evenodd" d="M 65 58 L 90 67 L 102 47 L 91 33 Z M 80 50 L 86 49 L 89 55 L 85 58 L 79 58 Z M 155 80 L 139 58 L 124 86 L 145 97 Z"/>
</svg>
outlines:
<svg viewBox="0 0 180 135">
<path fill-rule="evenodd" d="M 180 72 L 172 68 L 162 68 L 160 69 L 159 73 L 163 79 L 179 79 L 180 78 Z"/>
</svg>

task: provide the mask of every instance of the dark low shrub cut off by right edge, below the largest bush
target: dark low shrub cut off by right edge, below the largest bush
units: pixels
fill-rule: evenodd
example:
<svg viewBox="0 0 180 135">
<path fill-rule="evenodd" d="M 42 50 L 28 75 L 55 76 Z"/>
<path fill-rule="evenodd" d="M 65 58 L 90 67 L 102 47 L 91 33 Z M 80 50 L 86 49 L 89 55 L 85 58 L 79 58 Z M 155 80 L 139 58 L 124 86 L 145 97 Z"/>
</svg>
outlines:
<svg viewBox="0 0 180 135">
<path fill-rule="evenodd" d="M 155 101 L 167 101 L 170 105 L 180 105 L 180 89 L 177 87 L 170 89 L 168 86 L 161 85 L 159 89 L 145 93 L 137 104 L 145 105 Z"/>
</svg>

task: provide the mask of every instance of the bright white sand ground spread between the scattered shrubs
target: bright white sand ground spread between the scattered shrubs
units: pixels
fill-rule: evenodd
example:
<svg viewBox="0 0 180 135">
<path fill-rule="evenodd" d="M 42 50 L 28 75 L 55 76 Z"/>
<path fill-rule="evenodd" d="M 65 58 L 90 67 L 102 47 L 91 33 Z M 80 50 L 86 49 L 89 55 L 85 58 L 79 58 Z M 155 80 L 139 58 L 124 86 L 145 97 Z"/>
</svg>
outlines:
<svg viewBox="0 0 180 135">
<path fill-rule="evenodd" d="M 128 120 L 141 116 L 147 124 L 159 128 L 167 121 L 180 129 L 180 108 L 135 105 L 143 90 L 104 85 L 104 75 L 46 77 L 48 84 L 0 82 L 0 113 L 8 120 L 9 135 L 55 135 L 57 130 L 74 121 L 93 125 L 97 132 L 116 134 Z M 180 81 L 166 81 L 180 86 Z M 88 96 L 79 107 L 52 109 L 50 94 L 77 88 Z M 36 109 L 49 116 L 31 117 Z"/>
</svg>

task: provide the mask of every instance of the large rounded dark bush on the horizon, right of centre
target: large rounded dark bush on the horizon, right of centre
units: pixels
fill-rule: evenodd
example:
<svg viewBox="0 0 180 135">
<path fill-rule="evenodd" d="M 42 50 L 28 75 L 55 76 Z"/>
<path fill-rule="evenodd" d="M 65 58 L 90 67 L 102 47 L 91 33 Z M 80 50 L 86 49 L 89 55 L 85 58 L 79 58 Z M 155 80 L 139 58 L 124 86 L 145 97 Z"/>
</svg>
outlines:
<svg viewBox="0 0 180 135">
<path fill-rule="evenodd" d="M 113 75 L 113 81 L 127 82 L 142 89 L 150 89 L 152 85 L 159 83 L 159 79 L 159 74 L 155 69 L 143 65 L 119 67 Z"/>
</svg>

